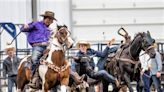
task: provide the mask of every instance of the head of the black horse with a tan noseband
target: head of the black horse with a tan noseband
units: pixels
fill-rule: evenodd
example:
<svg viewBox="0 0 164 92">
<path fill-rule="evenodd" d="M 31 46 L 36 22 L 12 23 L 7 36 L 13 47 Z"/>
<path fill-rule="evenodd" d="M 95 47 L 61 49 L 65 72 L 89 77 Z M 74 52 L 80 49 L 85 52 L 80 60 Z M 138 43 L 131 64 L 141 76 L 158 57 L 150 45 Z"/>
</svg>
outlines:
<svg viewBox="0 0 164 92">
<path fill-rule="evenodd" d="M 155 40 L 151 37 L 150 32 L 143 32 L 142 34 L 142 49 L 151 57 L 155 57 L 154 43 Z"/>
</svg>

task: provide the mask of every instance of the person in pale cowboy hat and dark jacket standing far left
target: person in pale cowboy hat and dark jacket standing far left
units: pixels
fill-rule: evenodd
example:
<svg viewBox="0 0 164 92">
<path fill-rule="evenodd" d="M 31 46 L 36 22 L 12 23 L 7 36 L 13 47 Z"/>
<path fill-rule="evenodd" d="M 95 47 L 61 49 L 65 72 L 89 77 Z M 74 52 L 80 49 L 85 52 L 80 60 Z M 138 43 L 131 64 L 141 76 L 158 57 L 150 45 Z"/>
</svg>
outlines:
<svg viewBox="0 0 164 92">
<path fill-rule="evenodd" d="M 20 59 L 15 55 L 15 48 L 11 45 L 7 45 L 5 52 L 8 56 L 3 61 L 3 76 L 8 78 L 8 92 L 13 92 L 14 84 L 17 86 L 16 76 Z"/>
</svg>

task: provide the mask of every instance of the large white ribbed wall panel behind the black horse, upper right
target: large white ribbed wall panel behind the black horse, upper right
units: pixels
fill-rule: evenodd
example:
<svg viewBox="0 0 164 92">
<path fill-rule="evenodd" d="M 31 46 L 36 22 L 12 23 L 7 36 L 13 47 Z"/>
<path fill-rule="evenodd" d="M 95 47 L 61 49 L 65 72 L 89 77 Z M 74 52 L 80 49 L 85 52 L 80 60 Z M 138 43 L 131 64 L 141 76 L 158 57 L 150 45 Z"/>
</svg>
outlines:
<svg viewBox="0 0 164 92">
<path fill-rule="evenodd" d="M 72 0 L 73 36 L 102 41 L 123 39 L 117 30 L 123 26 L 133 37 L 149 30 L 153 37 L 164 37 L 163 0 Z"/>
</svg>

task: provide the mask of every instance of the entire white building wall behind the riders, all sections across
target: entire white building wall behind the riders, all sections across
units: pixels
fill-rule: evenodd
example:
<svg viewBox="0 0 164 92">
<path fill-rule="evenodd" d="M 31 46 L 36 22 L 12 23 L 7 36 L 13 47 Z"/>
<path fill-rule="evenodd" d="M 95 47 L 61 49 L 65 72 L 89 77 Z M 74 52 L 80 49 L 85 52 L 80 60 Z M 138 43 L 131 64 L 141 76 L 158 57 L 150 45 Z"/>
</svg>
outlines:
<svg viewBox="0 0 164 92">
<path fill-rule="evenodd" d="M 31 9 L 31 0 L 0 0 L 0 22 L 29 23 Z M 149 30 L 158 41 L 164 40 L 164 0 L 37 0 L 38 20 L 46 10 L 54 11 L 76 40 L 102 42 L 115 37 L 120 41 L 117 30 L 121 26 L 132 37 Z M 2 45 L 12 40 L 5 32 L 1 38 Z M 18 47 L 25 48 L 26 36 L 21 34 L 18 40 Z"/>
</svg>

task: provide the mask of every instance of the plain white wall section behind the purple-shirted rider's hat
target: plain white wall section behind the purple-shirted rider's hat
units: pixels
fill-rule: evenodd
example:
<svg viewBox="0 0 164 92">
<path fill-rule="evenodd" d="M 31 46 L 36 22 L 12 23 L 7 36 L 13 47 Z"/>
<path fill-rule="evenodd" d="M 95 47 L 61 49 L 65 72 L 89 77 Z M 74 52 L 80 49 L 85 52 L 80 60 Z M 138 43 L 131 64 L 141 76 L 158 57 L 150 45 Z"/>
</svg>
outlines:
<svg viewBox="0 0 164 92">
<path fill-rule="evenodd" d="M 70 0 L 37 0 L 38 19 L 45 11 L 53 11 L 58 22 L 70 27 Z"/>
</svg>

